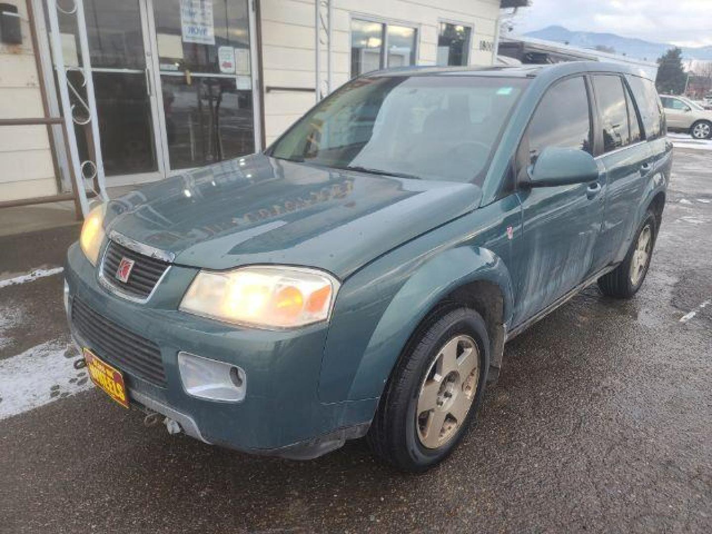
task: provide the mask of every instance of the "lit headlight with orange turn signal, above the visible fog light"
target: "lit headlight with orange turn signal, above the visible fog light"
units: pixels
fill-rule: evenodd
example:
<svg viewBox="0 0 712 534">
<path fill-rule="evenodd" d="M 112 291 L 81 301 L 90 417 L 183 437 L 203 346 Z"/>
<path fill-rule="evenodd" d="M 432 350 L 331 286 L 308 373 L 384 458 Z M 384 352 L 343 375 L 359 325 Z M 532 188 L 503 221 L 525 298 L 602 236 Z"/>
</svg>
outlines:
<svg viewBox="0 0 712 534">
<path fill-rule="evenodd" d="M 295 328 L 327 320 L 338 286 L 333 276 L 308 268 L 201 271 L 180 309 L 241 325 Z"/>
</svg>

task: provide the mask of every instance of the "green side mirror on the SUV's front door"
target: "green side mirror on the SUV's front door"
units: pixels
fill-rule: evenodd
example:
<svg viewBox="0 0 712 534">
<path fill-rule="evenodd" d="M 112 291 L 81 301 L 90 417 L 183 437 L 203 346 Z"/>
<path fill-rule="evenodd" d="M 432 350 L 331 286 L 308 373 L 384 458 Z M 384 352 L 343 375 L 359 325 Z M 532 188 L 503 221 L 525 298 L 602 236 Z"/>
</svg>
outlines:
<svg viewBox="0 0 712 534">
<path fill-rule="evenodd" d="M 593 156 L 576 148 L 547 147 L 529 167 L 531 187 L 585 184 L 598 179 Z"/>
</svg>

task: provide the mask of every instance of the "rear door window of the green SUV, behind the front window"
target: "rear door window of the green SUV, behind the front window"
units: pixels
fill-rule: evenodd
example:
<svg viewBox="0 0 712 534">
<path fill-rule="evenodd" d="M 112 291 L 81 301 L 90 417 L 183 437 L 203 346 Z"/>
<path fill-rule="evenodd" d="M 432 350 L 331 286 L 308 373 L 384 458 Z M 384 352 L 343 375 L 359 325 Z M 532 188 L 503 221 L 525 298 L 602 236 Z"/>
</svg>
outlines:
<svg viewBox="0 0 712 534">
<path fill-rule="evenodd" d="M 601 113 L 603 151 L 610 152 L 630 144 L 628 108 L 622 80 L 618 76 L 593 77 L 596 103 Z"/>
</svg>

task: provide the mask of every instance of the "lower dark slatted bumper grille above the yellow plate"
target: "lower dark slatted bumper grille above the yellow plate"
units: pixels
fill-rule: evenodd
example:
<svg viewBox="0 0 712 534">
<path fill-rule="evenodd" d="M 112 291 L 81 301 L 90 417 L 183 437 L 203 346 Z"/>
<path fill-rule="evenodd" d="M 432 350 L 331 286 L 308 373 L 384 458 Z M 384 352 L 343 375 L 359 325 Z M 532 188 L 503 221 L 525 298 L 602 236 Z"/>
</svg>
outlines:
<svg viewBox="0 0 712 534">
<path fill-rule="evenodd" d="M 72 325 L 98 357 L 153 384 L 165 385 L 161 351 L 154 342 L 112 323 L 76 297 Z"/>
</svg>

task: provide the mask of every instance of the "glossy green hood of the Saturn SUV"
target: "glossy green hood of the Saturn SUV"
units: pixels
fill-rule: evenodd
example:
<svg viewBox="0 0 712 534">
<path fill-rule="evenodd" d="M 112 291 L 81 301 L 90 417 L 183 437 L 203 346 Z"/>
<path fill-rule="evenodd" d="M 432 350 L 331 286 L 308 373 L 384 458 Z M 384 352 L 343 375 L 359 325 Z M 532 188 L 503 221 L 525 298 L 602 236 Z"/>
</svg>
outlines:
<svg viewBox="0 0 712 534">
<path fill-rule="evenodd" d="M 253 155 L 204 167 L 108 204 L 105 227 L 227 269 L 312 266 L 345 278 L 409 239 L 476 209 L 473 184 L 385 177 Z"/>
</svg>

